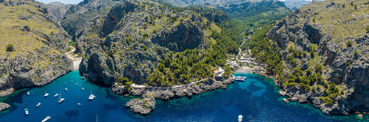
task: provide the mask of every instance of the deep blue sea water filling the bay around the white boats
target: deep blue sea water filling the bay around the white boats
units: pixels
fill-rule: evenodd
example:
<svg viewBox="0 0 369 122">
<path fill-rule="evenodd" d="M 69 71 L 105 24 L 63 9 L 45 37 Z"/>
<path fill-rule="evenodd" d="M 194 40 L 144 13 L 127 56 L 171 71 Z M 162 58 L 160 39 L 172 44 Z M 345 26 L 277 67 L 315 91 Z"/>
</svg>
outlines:
<svg viewBox="0 0 369 122">
<path fill-rule="evenodd" d="M 79 72 L 72 71 L 44 86 L 17 90 L 0 98 L 0 102 L 11 105 L 0 113 L 0 122 L 41 121 L 49 115 L 52 118 L 48 121 L 95 121 L 96 114 L 99 121 L 237 121 L 239 114 L 243 115 L 243 121 L 360 121 L 355 115 L 326 116 L 309 104 L 285 104 L 272 80 L 256 74 L 234 75 L 248 79 L 228 85 L 227 90 L 218 89 L 191 99 L 157 100 L 151 114 L 140 116 L 124 107 L 132 98 L 114 95 L 110 87 L 81 80 Z M 90 89 L 96 96 L 92 101 L 88 101 Z M 44 90 L 50 95 L 44 97 Z M 60 104 L 59 97 L 54 98 L 59 92 L 65 98 Z M 36 107 L 38 102 L 41 105 Z M 25 108 L 29 115 L 24 114 Z M 364 118 L 369 116 L 365 114 Z"/>
</svg>

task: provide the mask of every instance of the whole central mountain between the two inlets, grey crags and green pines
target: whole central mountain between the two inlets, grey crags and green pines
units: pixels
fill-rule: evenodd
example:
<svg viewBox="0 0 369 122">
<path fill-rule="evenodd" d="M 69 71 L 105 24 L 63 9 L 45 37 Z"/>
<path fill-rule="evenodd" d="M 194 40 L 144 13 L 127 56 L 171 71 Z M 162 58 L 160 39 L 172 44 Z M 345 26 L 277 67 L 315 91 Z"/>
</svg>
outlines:
<svg viewBox="0 0 369 122">
<path fill-rule="evenodd" d="M 241 28 L 224 13 L 162 1 L 84 1 L 70 7 L 62 26 L 85 55 L 81 74 L 109 85 L 212 77 L 242 42 Z"/>
</svg>

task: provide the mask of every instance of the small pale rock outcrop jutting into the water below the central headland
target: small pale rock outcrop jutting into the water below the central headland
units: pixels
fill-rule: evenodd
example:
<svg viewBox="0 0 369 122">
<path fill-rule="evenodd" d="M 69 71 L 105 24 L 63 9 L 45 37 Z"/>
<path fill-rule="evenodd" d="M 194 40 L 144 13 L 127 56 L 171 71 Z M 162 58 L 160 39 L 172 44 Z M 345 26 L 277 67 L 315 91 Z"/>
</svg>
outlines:
<svg viewBox="0 0 369 122">
<path fill-rule="evenodd" d="M 132 99 L 127 102 L 126 107 L 130 108 L 132 112 L 140 115 L 148 115 L 155 109 L 155 98 L 146 97 L 144 99 Z"/>
</svg>

